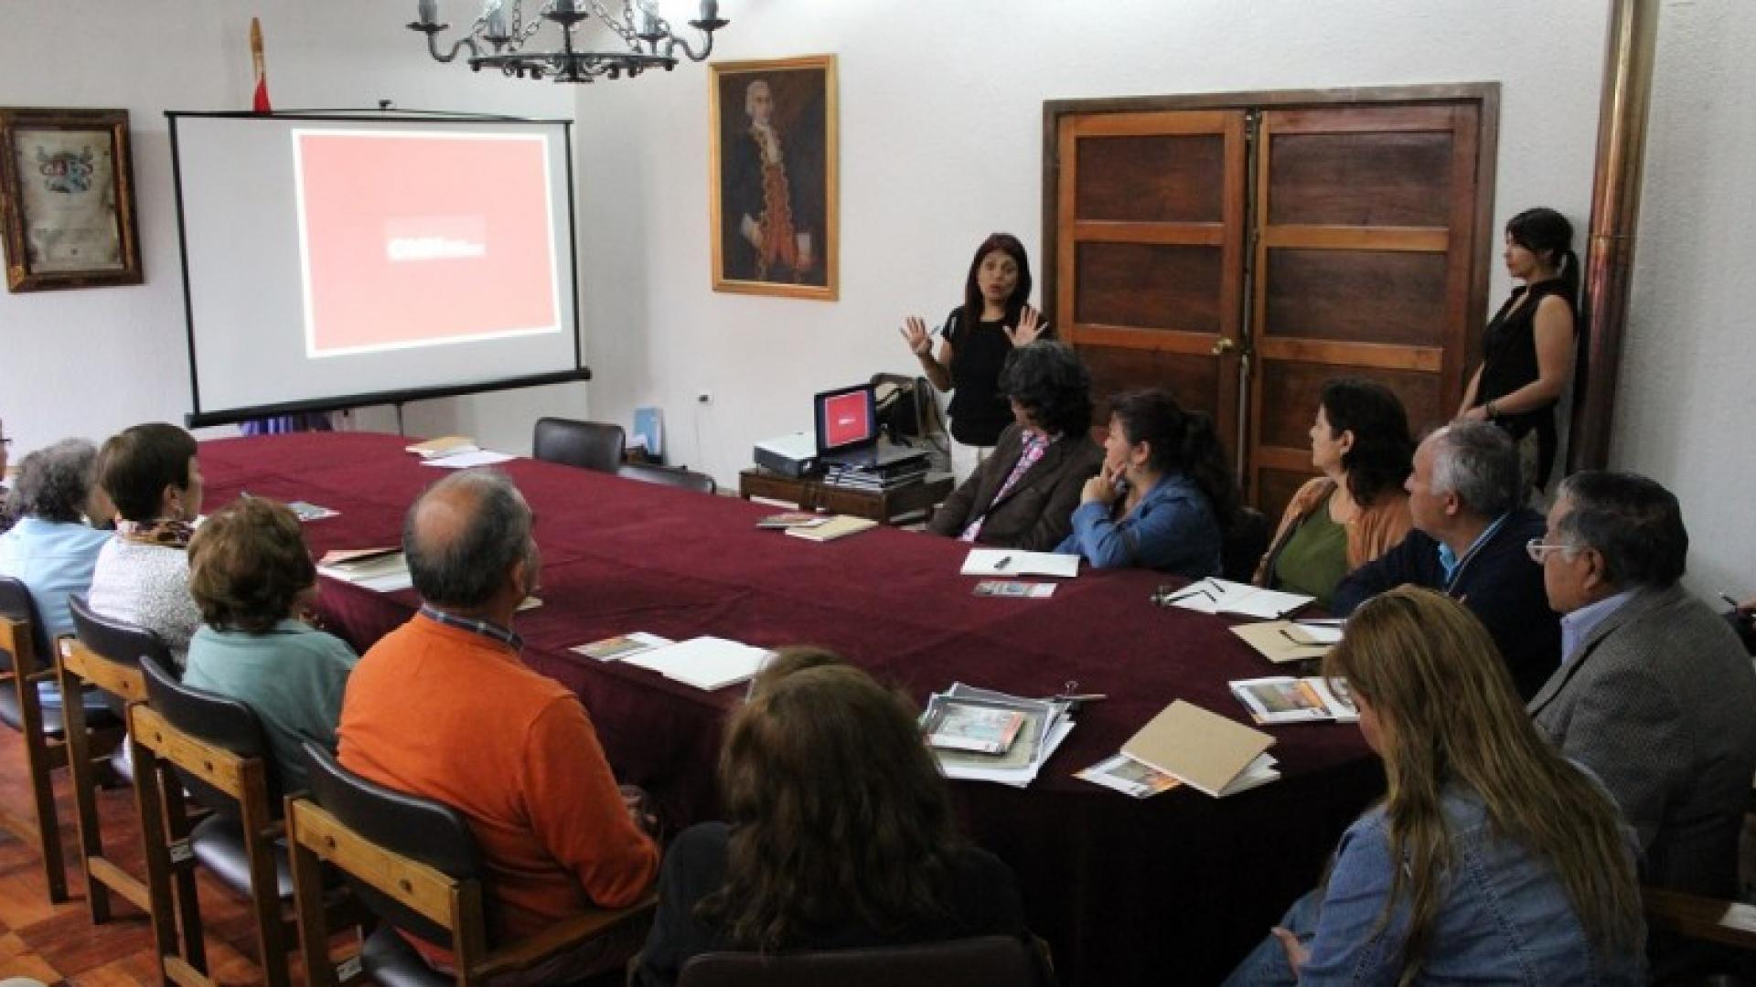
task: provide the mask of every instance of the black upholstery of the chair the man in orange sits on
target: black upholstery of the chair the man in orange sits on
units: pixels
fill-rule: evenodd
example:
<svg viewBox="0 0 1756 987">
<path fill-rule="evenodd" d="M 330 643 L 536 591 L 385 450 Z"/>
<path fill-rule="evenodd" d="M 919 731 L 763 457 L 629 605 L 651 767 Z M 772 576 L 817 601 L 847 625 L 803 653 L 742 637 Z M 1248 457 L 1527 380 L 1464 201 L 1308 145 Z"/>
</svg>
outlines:
<svg viewBox="0 0 1756 987">
<path fill-rule="evenodd" d="M 314 743 L 304 745 L 304 755 L 311 799 L 360 839 L 460 882 L 481 878 L 481 854 L 462 813 L 444 803 L 360 778 Z M 348 873 L 348 883 L 367 908 L 399 929 L 450 947 L 451 929 L 374 887 L 372 876 Z"/>
</svg>

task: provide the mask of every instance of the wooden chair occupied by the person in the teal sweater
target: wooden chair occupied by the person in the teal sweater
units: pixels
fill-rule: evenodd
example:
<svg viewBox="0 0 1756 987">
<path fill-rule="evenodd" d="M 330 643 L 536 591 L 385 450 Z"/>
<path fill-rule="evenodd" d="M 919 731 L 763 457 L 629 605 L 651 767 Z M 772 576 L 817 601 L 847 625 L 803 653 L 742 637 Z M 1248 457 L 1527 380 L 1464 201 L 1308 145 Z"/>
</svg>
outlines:
<svg viewBox="0 0 1756 987">
<path fill-rule="evenodd" d="M 200 862 L 249 897 L 263 982 L 284 987 L 295 931 L 281 906 L 293 889 L 286 852 L 276 845 L 281 785 L 262 720 L 244 702 L 181 685 L 153 659 L 142 659 L 140 671 L 148 701 L 128 706 L 128 738 L 160 975 L 167 983 L 212 983 L 200 922 L 184 926 L 181 940 L 174 922 L 177 878 L 188 882 L 190 913 L 200 913 L 193 883 Z M 193 827 L 184 789 L 212 810 Z"/>
</svg>

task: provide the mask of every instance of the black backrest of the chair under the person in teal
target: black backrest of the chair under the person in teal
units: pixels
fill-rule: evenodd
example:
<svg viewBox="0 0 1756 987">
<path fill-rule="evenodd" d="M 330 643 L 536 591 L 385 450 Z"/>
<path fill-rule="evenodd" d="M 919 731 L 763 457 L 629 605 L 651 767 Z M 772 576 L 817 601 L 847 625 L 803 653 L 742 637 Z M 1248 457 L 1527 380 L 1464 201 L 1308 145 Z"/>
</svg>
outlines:
<svg viewBox="0 0 1756 987">
<path fill-rule="evenodd" d="M 269 732 L 256 711 L 237 699 L 183 685 L 155 659 L 142 659 L 140 673 L 146 676 L 148 706 L 158 711 L 172 729 L 237 757 L 262 760 L 269 817 L 279 818 L 281 778 L 274 767 Z M 195 774 L 200 766 L 183 764 L 174 753 L 167 760 L 177 766 L 183 785 L 198 803 L 225 815 L 241 811 L 241 801 L 248 797 L 246 792 L 228 792 L 209 785 Z"/>
</svg>

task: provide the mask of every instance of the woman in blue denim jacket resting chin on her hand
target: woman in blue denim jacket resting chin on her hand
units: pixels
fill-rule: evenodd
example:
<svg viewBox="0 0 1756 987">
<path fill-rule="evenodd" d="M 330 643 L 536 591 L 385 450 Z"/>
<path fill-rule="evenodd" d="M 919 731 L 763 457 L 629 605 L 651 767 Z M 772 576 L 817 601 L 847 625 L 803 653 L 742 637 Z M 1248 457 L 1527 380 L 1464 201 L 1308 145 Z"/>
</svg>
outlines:
<svg viewBox="0 0 1756 987">
<path fill-rule="evenodd" d="M 1096 569 L 1138 566 L 1191 580 L 1220 574 L 1220 532 L 1238 511 L 1213 418 L 1166 390 L 1110 402 L 1105 464 L 1080 490 L 1073 534 L 1055 551 Z"/>
</svg>

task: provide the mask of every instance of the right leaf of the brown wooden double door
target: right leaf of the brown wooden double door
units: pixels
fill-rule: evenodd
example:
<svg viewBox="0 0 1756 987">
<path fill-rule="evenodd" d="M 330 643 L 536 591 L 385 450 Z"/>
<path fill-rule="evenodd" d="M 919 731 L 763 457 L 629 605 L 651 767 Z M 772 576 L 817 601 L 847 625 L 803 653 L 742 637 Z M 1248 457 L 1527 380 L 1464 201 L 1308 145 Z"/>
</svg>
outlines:
<svg viewBox="0 0 1756 987">
<path fill-rule="evenodd" d="M 1322 385 L 1385 383 L 1417 434 L 1463 393 L 1473 104 L 1268 111 L 1257 144 L 1249 472 L 1278 513 L 1312 476 Z"/>
</svg>

